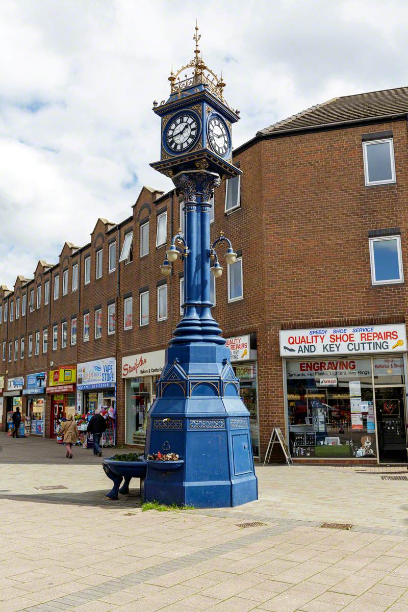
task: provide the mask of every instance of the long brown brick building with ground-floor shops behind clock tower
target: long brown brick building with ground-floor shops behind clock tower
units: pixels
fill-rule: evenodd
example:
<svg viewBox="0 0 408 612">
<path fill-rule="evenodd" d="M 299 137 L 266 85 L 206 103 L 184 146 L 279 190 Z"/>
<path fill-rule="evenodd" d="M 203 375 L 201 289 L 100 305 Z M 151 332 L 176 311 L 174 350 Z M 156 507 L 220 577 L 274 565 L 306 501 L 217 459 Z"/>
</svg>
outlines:
<svg viewBox="0 0 408 612">
<path fill-rule="evenodd" d="M 243 175 L 215 193 L 212 239 L 223 230 L 238 258 L 212 279 L 213 316 L 259 457 L 280 427 L 297 461 L 406 460 L 407 117 L 408 88 L 313 106 L 236 149 Z M 89 244 L 1 286 L 2 428 L 19 402 L 44 400 L 52 436 L 60 412 L 116 399 L 117 440 L 143 444 L 182 304 L 181 263 L 168 278 L 160 264 L 183 223 L 174 191 L 144 187 L 123 222 L 99 219 Z"/>
</svg>

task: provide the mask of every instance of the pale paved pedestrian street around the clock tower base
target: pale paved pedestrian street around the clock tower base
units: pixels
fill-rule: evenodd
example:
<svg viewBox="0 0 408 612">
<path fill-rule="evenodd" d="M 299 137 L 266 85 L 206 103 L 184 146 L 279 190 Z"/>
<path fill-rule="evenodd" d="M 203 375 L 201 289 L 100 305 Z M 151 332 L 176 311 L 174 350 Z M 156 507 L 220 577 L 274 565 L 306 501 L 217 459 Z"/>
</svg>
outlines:
<svg viewBox="0 0 408 612">
<path fill-rule="evenodd" d="M 0 612 L 408 612 L 402 466 L 259 466 L 247 506 L 142 512 L 92 451 L 0 446 Z"/>
</svg>

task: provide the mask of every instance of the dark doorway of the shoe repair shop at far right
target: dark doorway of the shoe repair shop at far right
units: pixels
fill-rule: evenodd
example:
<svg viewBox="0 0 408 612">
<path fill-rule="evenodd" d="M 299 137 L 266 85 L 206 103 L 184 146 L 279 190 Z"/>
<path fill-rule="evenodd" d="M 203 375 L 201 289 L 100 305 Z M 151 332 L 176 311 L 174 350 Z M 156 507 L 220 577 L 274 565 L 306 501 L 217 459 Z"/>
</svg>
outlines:
<svg viewBox="0 0 408 612">
<path fill-rule="evenodd" d="M 382 463 L 406 463 L 405 387 L 376 387 L 378 456 Z"/>
</svg>

